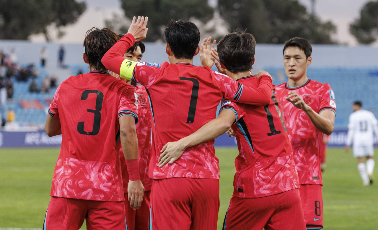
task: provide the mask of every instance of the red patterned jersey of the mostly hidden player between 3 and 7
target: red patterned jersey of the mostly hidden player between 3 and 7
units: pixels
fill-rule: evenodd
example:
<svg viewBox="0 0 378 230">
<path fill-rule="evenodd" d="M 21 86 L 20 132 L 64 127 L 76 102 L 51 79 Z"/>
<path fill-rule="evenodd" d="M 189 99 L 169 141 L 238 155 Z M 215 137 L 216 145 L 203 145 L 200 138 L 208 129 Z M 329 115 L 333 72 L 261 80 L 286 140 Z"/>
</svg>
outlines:
<svg viewBox="0 0 378 230">
<path fill-rule="evenodd" d="M 152 111 L 146 88 L 142 85 L 136 86 L 138 94 L 138 118 L 139 121 L 135 125 L 136 136 L 138 136 L 138 165 L 139 175 L 144 186 L 144 191 L 151 190 L 152 178 L 148 176 L 148 167 L 151 157 L 151 139 L 152 139 Z M 123 179 L 123 191 L 127 193 L 127 184 L 129 184 L 129 173 L 122 148 L 119 150 L 121 156 L 121 168 Z"/>
</svg>

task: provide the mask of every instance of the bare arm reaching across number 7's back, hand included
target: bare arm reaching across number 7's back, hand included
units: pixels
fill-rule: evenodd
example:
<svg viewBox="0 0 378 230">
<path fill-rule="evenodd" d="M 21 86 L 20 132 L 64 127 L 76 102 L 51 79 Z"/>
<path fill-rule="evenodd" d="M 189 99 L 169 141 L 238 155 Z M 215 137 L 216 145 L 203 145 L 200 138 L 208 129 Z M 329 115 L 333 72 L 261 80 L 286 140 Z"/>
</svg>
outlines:
<svg viewBox="0 0 378 230">
<path fill-rule="evenodd" d="M 170 165 L 181 157 L 186 148 L 198 145 L 203 142 L 215 139 L 225 133 L 237 119 L 234 110 L 221 110 L 219 116 L 204 124 L 200 129 L 191 135 L 184 137 L 177 142 L 168 142 L 161 150 L 159 167 L 166 163 Z"/>
</svg>

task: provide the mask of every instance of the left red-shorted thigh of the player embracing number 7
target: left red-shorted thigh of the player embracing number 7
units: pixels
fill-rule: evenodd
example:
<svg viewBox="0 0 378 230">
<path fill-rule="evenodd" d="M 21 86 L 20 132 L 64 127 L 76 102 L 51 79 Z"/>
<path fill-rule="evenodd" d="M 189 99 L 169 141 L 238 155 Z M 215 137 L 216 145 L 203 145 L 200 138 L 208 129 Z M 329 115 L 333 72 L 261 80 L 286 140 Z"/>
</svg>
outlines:
<svg viewBox="0 0 378 230">
<path fill-rule="evenodd" d="M 275 202 L 275 195 L 261 198 L 232 196 L 222 229 L 262 230 L 274 212 Z"/>
</svg>

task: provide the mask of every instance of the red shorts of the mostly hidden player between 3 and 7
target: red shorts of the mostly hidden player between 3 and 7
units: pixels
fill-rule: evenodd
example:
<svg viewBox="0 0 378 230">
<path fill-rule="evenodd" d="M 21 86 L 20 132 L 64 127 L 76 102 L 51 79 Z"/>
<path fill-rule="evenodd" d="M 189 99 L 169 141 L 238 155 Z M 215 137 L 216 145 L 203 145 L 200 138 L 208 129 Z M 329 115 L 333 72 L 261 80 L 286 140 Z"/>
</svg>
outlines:
<svg viewBox="0 0 378 230">
<path fill-rule="evenodd" d="M 128 194 L 125 193 L 125 216 L 127 230 L 148 230 L 150 194 L 151 191 L 144 191 L 141 207 L 134 210 L 133 208 L 130 208 Z"/>
</svg>

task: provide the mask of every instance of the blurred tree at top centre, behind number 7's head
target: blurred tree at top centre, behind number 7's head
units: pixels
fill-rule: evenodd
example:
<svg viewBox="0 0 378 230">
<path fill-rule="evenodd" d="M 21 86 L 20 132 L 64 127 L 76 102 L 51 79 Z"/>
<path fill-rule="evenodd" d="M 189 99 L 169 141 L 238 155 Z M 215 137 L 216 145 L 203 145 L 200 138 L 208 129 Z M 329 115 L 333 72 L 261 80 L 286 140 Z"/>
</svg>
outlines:
<svg viewBox="0 0 378 230">
<path fill-rule="evenodd" d="M 171 19 L 189 20 L 196 18 L 202 22 L 210 20 L 214 8 L 206 0 L 121 0 L 126 17 L 147 16 L 148 35 L 146 41 L 164 41 L 164 29 Z"/>
</svg>

